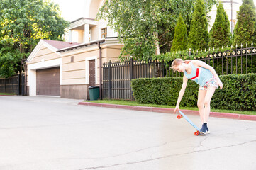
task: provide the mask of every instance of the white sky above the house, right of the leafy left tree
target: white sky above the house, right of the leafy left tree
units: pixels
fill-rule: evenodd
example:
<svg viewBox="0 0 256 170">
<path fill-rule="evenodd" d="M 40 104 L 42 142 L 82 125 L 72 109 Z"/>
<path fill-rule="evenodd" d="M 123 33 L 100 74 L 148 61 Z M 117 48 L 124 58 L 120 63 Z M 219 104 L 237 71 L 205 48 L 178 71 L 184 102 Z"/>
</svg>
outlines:
<svg viewBox="0 0 256 170">
<path fill-rule="evenodd" d="M 59 4 L 62 17 L 67 21 L 74 21 L 84 17 L 84 6 L 87 0 L 51 0 L 55 4 Z M 256 4 L 256 0 L 254 0 Z"/>
</svg>

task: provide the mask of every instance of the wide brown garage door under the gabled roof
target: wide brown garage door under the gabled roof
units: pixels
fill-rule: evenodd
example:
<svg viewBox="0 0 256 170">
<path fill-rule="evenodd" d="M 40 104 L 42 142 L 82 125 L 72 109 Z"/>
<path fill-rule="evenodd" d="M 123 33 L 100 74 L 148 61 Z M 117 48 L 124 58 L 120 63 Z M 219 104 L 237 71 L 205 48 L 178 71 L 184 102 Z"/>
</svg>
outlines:
<svg viewBox="0 0 256 170">
<path fill-rule="evenodd" d="M 36 94 L 60 96 L 60 67 L 36 70 Z"/>
</svg>

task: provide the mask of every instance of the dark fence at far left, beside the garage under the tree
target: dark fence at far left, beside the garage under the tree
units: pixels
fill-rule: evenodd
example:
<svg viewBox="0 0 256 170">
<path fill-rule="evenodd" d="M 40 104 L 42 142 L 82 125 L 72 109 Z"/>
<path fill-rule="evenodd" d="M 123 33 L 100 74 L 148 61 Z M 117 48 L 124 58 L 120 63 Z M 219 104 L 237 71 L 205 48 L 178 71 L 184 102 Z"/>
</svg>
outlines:
<svg viewBox="0 0 256 170">
<path fill-rule="evenodd" d="M 0 93 L 26 95 L 25 74 L 15 74 L 9 78 L 0 78 Z"/>
</svg>

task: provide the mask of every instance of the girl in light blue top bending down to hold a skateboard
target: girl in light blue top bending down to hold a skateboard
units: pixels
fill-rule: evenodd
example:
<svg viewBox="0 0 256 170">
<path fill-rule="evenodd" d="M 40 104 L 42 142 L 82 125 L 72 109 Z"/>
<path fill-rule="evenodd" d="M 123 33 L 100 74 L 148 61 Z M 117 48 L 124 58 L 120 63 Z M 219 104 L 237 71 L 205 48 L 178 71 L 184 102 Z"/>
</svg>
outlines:
<svg viewBox="0 0 256 170">
<path fill-rule="evenodd" d="M 214 94 L 215 89 L 220 86 L 222 89 L 223 84 L 218 77 L 213 67 L 209 66 L 205 62 L 199 60 L 187 60 L 175 59 L 172 62 L 173 71 L 184 72 L 182 89 L 179 91 L 179 97 L 174 109 L 174 113 L 179 111 L 179 103 L 182 101 L 183 94 L 185 92 L 187 81 L 191 79 L 199 84 L 199 97 L 197 106 L 199 107 L 199 114 L 201 122 L 203 123 L 201 132 L 206 134 L 210 133 L 207 127 L 208 117 L 210 115 L 210 103 L 211 97 Z"/>
</svg>

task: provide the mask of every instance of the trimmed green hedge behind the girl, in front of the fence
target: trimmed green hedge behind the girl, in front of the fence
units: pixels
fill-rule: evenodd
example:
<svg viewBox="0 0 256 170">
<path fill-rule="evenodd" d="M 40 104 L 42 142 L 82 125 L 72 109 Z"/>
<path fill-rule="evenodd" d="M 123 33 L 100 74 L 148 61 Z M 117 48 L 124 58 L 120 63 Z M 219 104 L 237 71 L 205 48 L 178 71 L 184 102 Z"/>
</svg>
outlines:
<svg viewBox="0 0 256 170">
<path fill-rule="evenodd" d="M 220 76 L 223 89 L 216 89 L 211 108 L 256 111 L 256 74 Z M 138 103 L 175 106 L 182 88 L 182 77 L 142 78 L 132 81 L 133 96 Z M 189 80 L 179 106 L 196 107 L 199 85 Z"/>
</svg>

